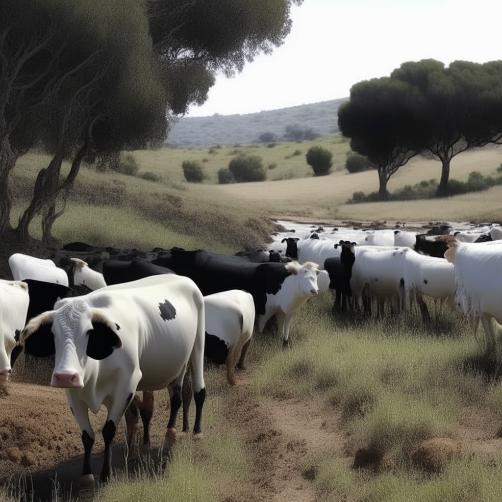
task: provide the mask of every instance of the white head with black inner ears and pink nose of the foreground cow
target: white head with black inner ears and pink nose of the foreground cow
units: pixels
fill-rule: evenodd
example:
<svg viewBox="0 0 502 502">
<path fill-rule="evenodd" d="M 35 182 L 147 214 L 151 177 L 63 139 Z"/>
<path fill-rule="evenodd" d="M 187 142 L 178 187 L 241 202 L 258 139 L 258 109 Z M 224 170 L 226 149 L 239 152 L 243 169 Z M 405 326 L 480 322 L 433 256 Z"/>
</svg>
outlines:
<svg viewBox="0 0 502 502">
<path fill-rule="evenodd" d="M 52 387 L 83 387 L 87 358 L 104 359 L 122 346 L 118 329 L 103 309 L 72 298 L 60 300 L 55 310 L 34 317 L 20 342 L 36 357 L 56 355 Z"/>
</svg>

